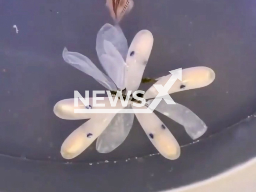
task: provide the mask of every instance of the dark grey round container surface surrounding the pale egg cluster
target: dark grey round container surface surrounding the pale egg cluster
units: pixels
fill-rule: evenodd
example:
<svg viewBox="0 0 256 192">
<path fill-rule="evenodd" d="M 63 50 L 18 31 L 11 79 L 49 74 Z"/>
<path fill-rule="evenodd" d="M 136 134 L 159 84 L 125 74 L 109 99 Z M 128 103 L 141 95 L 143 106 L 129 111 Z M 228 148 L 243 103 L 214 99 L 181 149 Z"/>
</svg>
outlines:
<svg viewBox="0 0 256 192">
<path fill-rule="evenodd" d="M 178 160 L 156 153 L 137 120 L 126 141 L 109 154 L 95 143 L 74 160 L 60 146 L 84 120 L 56 117 L 53 106 L 74 90 L 103 90 L 62 58 L 64 46 L 100 64 L 96 34 L 112 18 L 102 1 L 0 2 L 0 190 L 5 192 L 146 192 L 178 188 L 256 155 L 256 3 L 252 0 L 135 1 L 120 23 L 128 43 L 142 29 L 154 35 L 145 76 L 207 66 L 205 88 L 172 94 L 208 126 L 191 140 L 161 114 L 182 145 Z M 13 26 L 16 25 L 16 28 Z M 140 88 L 146 90 L 150 85 Z"/>
</svg>

